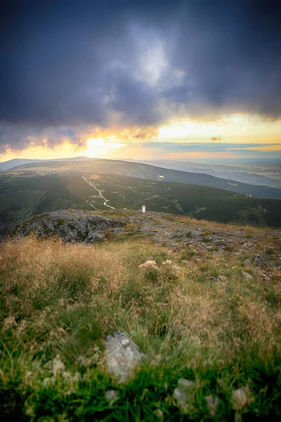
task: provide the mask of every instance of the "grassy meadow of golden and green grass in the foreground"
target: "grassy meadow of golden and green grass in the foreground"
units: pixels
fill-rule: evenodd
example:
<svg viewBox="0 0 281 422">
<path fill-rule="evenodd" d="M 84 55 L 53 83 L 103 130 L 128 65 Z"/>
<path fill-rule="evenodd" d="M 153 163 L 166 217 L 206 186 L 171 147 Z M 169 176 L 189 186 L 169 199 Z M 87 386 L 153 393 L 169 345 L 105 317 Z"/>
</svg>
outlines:
<svg viewBox="0 0 281 422">
<path fill-rule="evenodd" d="M 266 229 L 252 230 L 266 247 Z M 3 243 L 1 421 L 280 421 L 280 271 L 264 281 L 245 258 L 145 240 Z M 105 369 L 116 330 L 148 356 L 124 384 Z M 195 383 L 184 409 L 181 378 Z M 246 386 L 237 410 L 233 390 Z"/>
</svg>

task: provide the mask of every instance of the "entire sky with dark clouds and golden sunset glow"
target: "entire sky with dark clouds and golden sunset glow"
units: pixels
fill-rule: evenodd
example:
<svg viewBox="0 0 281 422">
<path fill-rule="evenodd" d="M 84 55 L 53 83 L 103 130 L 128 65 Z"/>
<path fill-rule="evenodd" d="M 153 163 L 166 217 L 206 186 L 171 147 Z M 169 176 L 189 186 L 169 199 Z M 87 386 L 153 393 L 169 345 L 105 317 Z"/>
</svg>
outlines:
<svg viewBox="0 0 281 422">
<path fill-rule="evenodd" d="M 281 2 L 0 6 L 0 160 L 281 158 Z"/>
</svg>

